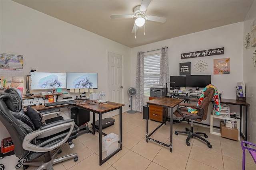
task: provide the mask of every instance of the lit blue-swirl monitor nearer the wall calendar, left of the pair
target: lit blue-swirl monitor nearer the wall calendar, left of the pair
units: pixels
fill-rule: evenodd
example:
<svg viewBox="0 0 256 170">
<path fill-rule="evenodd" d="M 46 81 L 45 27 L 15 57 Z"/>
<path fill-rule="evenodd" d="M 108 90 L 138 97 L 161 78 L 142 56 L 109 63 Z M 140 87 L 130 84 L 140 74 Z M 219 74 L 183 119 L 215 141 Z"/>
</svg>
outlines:
<svg viewBox="0 0 256 170">
<path fill-rule="evenodd" d="M 30 72 L 30 89 L 66 88 L 66 73 L 59 72 Z"/>
</svg>

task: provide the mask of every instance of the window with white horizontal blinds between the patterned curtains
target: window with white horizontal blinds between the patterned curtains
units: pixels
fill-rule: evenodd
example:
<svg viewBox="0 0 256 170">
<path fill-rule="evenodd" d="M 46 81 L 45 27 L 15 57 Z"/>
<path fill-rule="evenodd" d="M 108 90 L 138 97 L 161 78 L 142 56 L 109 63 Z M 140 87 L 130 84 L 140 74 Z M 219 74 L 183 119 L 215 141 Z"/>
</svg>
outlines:
<svg viewBox="0 0 256 170">
<path fill-rule="evenodd" d="M 150 96 L 150 88 L 159 84 L 161 54 L 144 56 L 144 96 Z"/>
</svg>

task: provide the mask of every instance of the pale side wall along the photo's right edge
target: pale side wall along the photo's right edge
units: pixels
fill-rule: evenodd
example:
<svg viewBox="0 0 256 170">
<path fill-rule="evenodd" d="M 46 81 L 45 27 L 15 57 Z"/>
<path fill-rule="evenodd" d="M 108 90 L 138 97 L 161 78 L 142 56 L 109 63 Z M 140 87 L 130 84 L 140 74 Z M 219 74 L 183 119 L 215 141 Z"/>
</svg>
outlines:
<svg viewBox="0 0 256 170">
<path fill-rule="evenodd" d="M 254 0 L 245 20 L 244 20 L 244 38 L 251 32 L 252 22 L 256 20 L 256 1 Z M 251 38 L 252 39 L 252 38 Z M 248 110 L 248 141 L 256 143 L 256 67 L 252 62 L 253 53 L 256 53 L 256 47 L 244 48 L 244 82 L 246 86 L 246 102 L 250 104 Z"/>
</svg>

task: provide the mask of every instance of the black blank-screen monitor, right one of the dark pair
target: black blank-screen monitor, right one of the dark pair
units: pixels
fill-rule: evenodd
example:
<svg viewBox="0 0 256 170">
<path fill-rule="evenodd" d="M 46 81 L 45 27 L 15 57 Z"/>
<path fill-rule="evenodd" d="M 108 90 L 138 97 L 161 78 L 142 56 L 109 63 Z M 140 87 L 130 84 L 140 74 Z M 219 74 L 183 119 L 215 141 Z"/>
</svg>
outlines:
<svg viewBox="0 0 256 170">
<path fill-rule="evenodd" d="M 212 75 L 186 75 L 186 87 L 195 87 L 196 90 L 211 84 Z"/>
</svg>

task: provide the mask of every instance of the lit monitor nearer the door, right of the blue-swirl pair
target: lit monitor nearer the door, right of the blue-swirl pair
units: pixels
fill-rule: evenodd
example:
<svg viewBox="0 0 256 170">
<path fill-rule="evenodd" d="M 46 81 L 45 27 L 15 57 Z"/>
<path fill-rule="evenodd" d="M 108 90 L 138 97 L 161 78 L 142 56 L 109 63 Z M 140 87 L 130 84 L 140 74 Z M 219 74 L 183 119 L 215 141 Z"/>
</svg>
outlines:
<svg viewBox="0 0 256 170">
<path fill-rule="evenodd" d="M 67 72 L 67 89 L 98 89 L 98 73 Z"/>
</svg>

